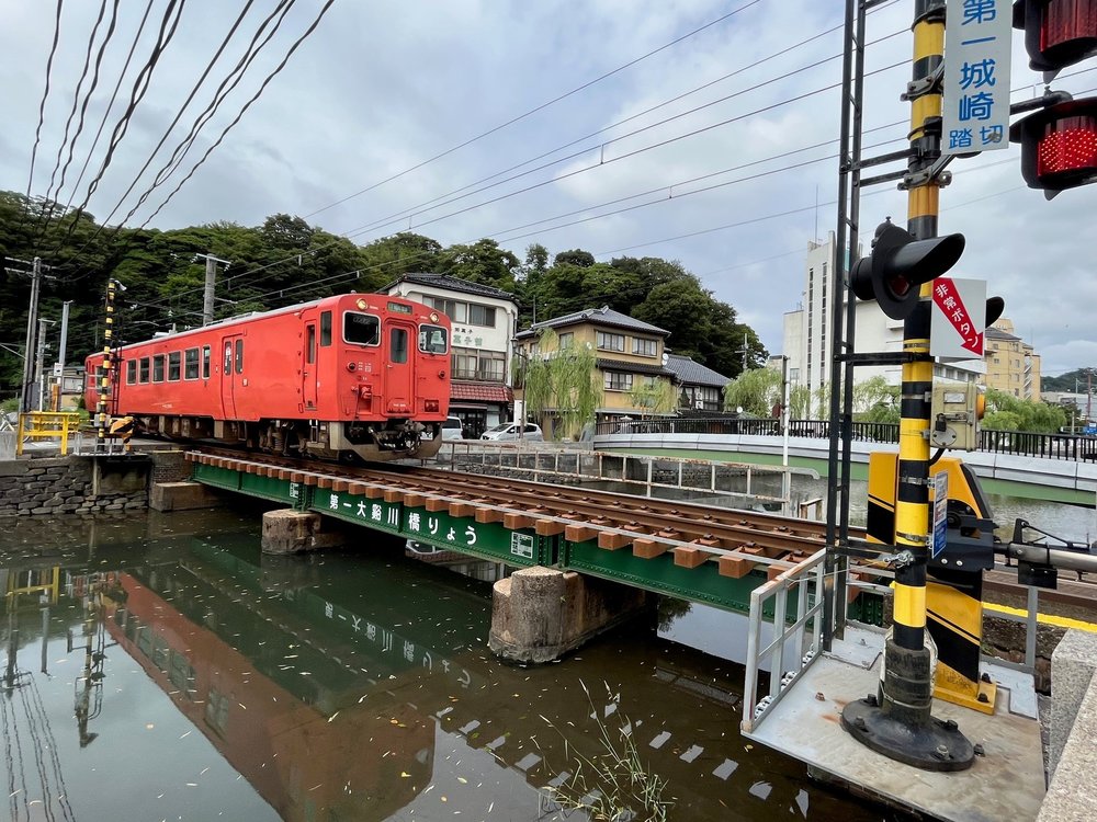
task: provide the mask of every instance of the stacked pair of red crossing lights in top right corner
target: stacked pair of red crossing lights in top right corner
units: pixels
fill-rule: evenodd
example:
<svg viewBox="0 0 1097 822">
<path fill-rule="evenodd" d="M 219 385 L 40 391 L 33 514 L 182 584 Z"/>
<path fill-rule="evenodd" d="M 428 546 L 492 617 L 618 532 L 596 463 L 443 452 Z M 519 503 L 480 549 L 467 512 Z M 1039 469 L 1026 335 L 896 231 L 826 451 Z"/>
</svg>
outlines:
<svg viewBox="0 0 1097 822">
<path fill-rule="evenodd" d="M 1045 78 L 1097 55 L 1097 0 L 1018 0 L 1014 27 L 1025 30 L 1029 65 Z M 1021 175 L 1030 189 L 1059 192 L 1097 181 L 1097 98 L 1049 105 L 1015 123 Z"/>
</svg>

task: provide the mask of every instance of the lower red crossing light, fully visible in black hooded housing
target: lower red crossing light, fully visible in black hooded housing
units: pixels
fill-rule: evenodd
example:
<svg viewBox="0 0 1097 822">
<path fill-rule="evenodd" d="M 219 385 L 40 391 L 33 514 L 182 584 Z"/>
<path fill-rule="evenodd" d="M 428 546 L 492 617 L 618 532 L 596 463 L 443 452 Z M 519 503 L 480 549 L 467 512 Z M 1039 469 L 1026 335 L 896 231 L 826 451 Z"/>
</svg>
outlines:
<svg viewBox="0 0 1097 822">
<path fill-rule="evenodd" d="M 1043 189 L 1049 198 L 1097 181 L 1097 98 L 1038 111 L 1015 123 L 1009 139 L 1021 144 L 1025 182 Z"/>
</svg>

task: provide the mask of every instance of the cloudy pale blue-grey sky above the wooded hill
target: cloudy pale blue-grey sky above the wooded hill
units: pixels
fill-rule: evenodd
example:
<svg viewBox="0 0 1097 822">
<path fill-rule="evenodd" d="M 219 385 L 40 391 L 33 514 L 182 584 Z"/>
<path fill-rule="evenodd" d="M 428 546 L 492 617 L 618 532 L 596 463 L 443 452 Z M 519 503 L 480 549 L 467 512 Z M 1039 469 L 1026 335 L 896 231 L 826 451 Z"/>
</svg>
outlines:
<svg viewBox="0 0 1097 822">
<path fill-rule="evenodd" d="M 59 190 L 63 202 L 73 203 L 86 196 L 168 3 L 151 0 L 118 100 L 92 150 L 149 7 L 120 3 L 59 189 L 60 173 L 53 186 L 50 178 L 68 145 L 66 122 L 89 37 L 108 7 L 94 65 L 113 5 L 64 0 L 32 194 Z M 199 134 L 181 171 L 126 218 L 278 7 L 257 0 L 199 85 L 245 3 L 185 3 L 91 197 L 97 219 L 145 222 L 323 2 L 292 4 Z M 581 248 L 601 260 L 678 260 L 778 353 L 782 313 L 801 301 L 807 243 L 835 225 L 839 105 L 830 87 L 840 81 L 840 7 L 837 0 L 336 0 L 149 225 L 253 226 L 289 213 L 358 242 L 410 228 L 446 244 L 493 237 L 520 258 L 540 242 L 553 253 Z M 27 187 L 55 11 L 54 0 L 0 0 L 0 189 Z M 869 39 L 879 42 L 867 58 L 875 73 L 866 80 L 864 125 L 875 130 L 866 145 L 884 145 L 867 156 L 905 146 L 909 107 L 898 95 L 909 66 L 887 67 L 909 59 L 912 14 L 913 3 L 891 2 L 870 16 Z M 1017 102 L 1039 91 L 1040 76 L 1028 69 L 1020 32 L 1014 45 Z M 1094 69 L 1097 59 L 1066 69 L 1075 76 L 1054 87 L 1090 92 L 1097 89 Z M 69 142 L 79 117 L 77 111 Z M 66 158 L 67 149 L 61 164 Z M 1097 185 L 1045 202 L 1024 186 L 1017 148 L 952 169 L 954 180 L 941 193 L 940 229 L 968 239 L 953 274 L 984 278 L 989 293 L 1005 298 L 1006 316 L 1043 356 L 1045 374 L 1097 366 Z M 903 225 L 906 195 L 891 185 L 870 189 L 861 214 L 868 235 L 886 216 Z"/>
</svg>

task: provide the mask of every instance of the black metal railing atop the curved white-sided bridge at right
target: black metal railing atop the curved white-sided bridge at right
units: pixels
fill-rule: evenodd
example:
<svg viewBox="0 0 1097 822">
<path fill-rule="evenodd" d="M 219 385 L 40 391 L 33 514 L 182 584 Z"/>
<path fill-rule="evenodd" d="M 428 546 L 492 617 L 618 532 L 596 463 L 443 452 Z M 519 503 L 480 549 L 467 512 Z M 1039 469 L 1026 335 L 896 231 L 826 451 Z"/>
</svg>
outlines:
<svg viewBox="0 0 1097 822">
<path fill-rule="evenodd" d="M 743 420 L 727 416 L 671 418 L 600 422 L 597 435 L 610 434 L 716 434 L 779 436 L 779 420 Z M 826 439 L 830 436 L 827 420 L 790 420 L 789 436 Z M 892 422 L 855 422 L 850 426 L 855 442 L 897 443 L 898 424 Z M 1028 431 L 979 432 L 979 450 L 1018 457 L 1042 457 L 1077 461 L 1097 460 L 1097 437 L 1085 434 L 1040 434 Z"/>
</svg>

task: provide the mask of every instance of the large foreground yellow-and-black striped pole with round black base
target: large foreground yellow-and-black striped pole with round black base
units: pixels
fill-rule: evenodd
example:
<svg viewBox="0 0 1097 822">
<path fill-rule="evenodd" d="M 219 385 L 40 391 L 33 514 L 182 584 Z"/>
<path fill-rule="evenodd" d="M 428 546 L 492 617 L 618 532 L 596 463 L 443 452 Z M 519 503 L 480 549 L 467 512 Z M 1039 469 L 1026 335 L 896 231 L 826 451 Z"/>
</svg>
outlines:
<svg viewBox="0 0 1097 822">
<path fill-rule="evenodd" d="M 957 8 L 957 7 L 953 7 Z M 907 98 L 911 153 L 906 184 L 907 232 L 915 241 L 937 237 L 940 187 L 926 173 L 940 159 L 945 0 L 915 0 L 914 59 Z M 962 246 L 961 246 L 962 249 Z M 925 261 L 923 261 L 925 264 Z M 913 272 L 915 276 L 918 272 Z M 924 272 L 929 273 L 929 272 Z M 924 277 L 923 277 L 924 278 Z M 914 282 L 921 282 L 917 278 Z M 903 384 L 895 491 L 896 553 L 894 624 L 884 646 L 879 697 L 847 705 L 842 727 L 893 760 L 928 770 L 961 770 L 974 758 L 955 722 L 931 716 L 932 659 L 926 647 L 926 567 L 930 553 L 929 433 L 934 357 L 929 349 L 932 281 L 903 326 Z"/>
</svg>

